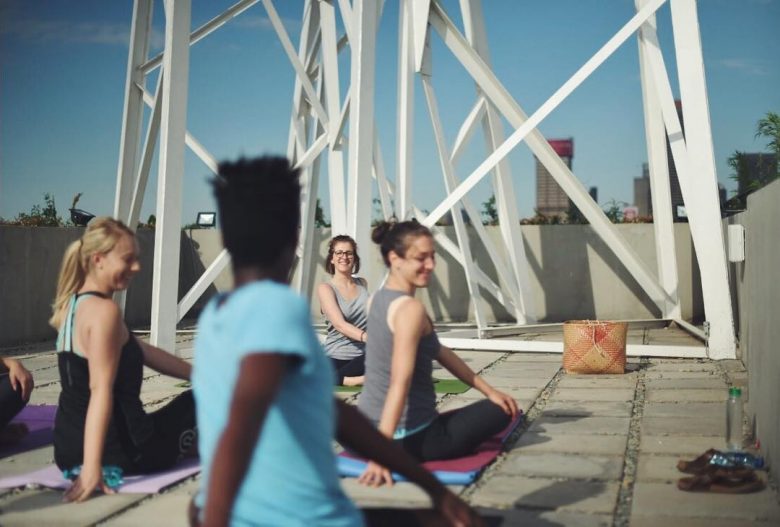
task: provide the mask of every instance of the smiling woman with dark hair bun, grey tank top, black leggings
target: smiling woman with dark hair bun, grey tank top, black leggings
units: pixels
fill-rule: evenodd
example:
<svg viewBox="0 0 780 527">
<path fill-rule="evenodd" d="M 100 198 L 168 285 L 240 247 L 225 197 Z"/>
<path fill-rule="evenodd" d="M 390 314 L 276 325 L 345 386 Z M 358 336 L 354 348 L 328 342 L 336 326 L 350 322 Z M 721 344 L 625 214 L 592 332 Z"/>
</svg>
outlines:
<svg viewBox="0 0 780 527">
<path fill-rule="evenodd" d="M 371 300 L 366 382 L 358 408 L 419 461 L 467 455 L 517 416 L 517 403 L 439 343 L 425 306 L 414 298 L 418 288 L 428 286 L 435 266 L 428 228 L 416 221 L 383 222 L 372 239 L 380 245 L 389 274 Z M 439 414 L 434 359 L 486 399 Z M 393 479 L 387 469 L 370 462 L 360 482 L 379 486 Z"/>
</svg>

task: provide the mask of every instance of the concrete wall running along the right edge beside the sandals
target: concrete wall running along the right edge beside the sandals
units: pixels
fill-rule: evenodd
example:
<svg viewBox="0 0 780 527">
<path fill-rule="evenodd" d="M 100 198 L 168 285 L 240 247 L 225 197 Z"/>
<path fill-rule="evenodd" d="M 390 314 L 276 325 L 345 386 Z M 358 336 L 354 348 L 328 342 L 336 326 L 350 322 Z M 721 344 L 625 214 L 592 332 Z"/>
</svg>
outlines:
<svg viewBox="0 0 780 527">
<path fill-rule="evenodd" d="M 748 414 L 769 464 L 780 466 L 780 180 L 748 196 L 747 210 L 727 223 L 745 227 L 745 261 L 732 263 L 732 299 L 742 361 L 748 370 Z"/>
</svg>

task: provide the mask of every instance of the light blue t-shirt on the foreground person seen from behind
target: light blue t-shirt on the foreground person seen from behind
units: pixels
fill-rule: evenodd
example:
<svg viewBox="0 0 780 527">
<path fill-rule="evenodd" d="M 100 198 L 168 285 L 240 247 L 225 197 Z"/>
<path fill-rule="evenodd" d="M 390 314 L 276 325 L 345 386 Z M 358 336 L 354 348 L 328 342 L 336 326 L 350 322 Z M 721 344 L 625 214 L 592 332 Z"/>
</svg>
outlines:
<svg viewBox="0 0 780 527">
<path fill-rule="evenodd" d="M 197 407 L 203 507 L 217 443 L 227 425 L 241 360 L 280 353 L 287 370 L 268 409 L 231 525 L 360 526 L 339 484 L 332 449 L 335 406 L 330 361 L 311 326 L 309 306 L 286 285 L 247 284 L 206 306 L 198 322 L 192 387 Z"/>
</svg>

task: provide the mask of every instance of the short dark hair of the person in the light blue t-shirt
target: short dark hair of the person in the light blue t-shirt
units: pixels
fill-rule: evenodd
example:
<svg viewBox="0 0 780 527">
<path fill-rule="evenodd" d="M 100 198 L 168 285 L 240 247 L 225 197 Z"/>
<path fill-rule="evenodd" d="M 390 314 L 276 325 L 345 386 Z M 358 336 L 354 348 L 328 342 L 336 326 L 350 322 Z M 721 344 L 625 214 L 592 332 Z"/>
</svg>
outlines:
<svg viewBox="0 0 780 527">
<path fill-rule="evenodd" d="M 225 248 L 234 265 L 274 264 L 298 240 L 301 186 L 284 157 L 219 164 L 212 180 Z"/>
</svg>

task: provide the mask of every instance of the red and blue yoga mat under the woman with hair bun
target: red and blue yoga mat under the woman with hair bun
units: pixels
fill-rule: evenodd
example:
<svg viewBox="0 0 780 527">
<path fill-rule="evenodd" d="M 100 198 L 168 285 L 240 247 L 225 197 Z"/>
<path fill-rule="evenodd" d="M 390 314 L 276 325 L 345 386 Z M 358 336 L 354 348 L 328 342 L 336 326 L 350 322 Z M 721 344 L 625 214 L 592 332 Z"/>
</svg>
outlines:
<svg viewBox="0 0 780 527">
<path fill-rule="evenodd" d="M 468 456 L 442 461 L 426 461 L 422 464 L 445 485 L 469 485 L 487 465 L 501 453 L 501 447 L 523 418 L 522 412 L 507 427 L 494 435 Z M 337 466 L 342 477 L 356 478 L 366 469 L 366 461 L 347 452 L 338 455 Z M 393 473 L 395 481 L 406 481 L 400 474 Z"/>
</svg>

